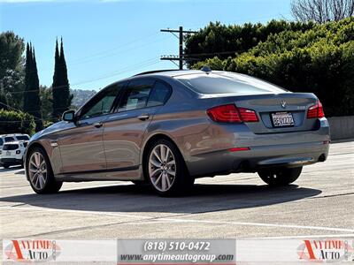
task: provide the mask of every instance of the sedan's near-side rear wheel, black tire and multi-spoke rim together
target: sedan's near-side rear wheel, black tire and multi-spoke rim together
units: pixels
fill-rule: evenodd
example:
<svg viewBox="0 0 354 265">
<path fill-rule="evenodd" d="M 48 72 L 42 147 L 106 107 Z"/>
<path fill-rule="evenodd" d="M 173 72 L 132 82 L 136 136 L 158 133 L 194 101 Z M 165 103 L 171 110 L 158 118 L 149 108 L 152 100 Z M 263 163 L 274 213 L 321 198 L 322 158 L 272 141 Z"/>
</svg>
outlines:
<svg viewBox="0 0 354 265">
<path fill-rule="evenodd" d="M 180 150 L 170 140 L 157 140 L 148 151 L 144 176 L 162 196 L 188 193 L 194 185 Z"/>
</svg>

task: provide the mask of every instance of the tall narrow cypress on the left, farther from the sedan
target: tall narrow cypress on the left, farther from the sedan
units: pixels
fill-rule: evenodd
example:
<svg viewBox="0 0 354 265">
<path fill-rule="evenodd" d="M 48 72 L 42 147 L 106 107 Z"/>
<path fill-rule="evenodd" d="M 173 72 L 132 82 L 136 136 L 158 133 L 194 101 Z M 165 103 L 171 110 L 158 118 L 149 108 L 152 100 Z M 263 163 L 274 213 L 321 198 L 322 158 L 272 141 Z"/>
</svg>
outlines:
<svg viewBox="0 0 354 265">
<path fill-rule="evenodd" d="M 35 117 L 35 131 L 42 130 L 41 100 L 35 49 L 27 44 L 23 110 Z"/>
</svg>

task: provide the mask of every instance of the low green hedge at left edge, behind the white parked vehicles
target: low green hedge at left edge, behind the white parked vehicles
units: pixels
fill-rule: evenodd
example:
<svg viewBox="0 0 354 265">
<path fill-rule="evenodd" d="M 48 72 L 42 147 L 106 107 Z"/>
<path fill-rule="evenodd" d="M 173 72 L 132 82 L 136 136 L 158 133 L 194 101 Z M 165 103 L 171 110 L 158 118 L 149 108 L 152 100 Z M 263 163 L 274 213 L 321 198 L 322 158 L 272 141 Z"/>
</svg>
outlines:
<svg viewBox="0 0 354 265">
<path fill-rule="evenodd" d="M 0 134 L 35 133 L 35 118 L 24 112 L 0 110 Z"/>
</svg>

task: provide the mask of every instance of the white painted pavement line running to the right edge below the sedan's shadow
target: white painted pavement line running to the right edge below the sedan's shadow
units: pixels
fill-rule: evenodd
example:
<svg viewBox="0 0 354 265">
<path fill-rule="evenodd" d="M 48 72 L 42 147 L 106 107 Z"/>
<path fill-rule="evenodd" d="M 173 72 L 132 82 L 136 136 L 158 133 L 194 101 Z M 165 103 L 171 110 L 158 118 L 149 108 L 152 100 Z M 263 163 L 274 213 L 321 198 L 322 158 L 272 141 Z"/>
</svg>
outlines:
<svg viewBox="0 0 354 265">
<path fill-rule="evenodd" d="M 158 218 L 158 220 L 168 220 L 176 223 L 214 223 L 214 224 L 235 224 L 235 225 L 248 225 L 248 226 L 268 226 L 268 227 L 281 227 L 281 228 L 296 228 L 296 229 L 309 229 L 321 231 L 342 231 L 354 232 L 354 229 L 335 228 L 335 227 L 321 227 L 321 226 L 306 226 L 296 224 L 277 224 L 277 223 L 248 223 L 248 222 L 228 222 L 228 221 L 211 221 L 211 220 L 191 220 L 191 219 L 172 219 L 172 218 Z"/>
</svg>

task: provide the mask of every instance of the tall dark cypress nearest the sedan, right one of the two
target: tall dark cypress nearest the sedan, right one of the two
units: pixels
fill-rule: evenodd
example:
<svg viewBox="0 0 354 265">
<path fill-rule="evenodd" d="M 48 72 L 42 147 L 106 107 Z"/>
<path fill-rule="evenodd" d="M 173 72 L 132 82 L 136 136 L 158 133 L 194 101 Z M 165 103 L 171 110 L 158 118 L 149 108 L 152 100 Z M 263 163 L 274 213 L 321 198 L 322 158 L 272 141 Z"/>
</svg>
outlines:
<svg viewBox="0 0 354 265">
<path fill-rule="evenodd" d="M 56 42 L 52 95 L 52 116 L 59 119 L 65 110 L 69 110 L 73 100 L 73 95 L 70 94 L 69 80 L 67 78 L 63 40 L 61 40 L 60 43 L 60 52 L 58 50 L 58 40 Z"/>
</svg>

